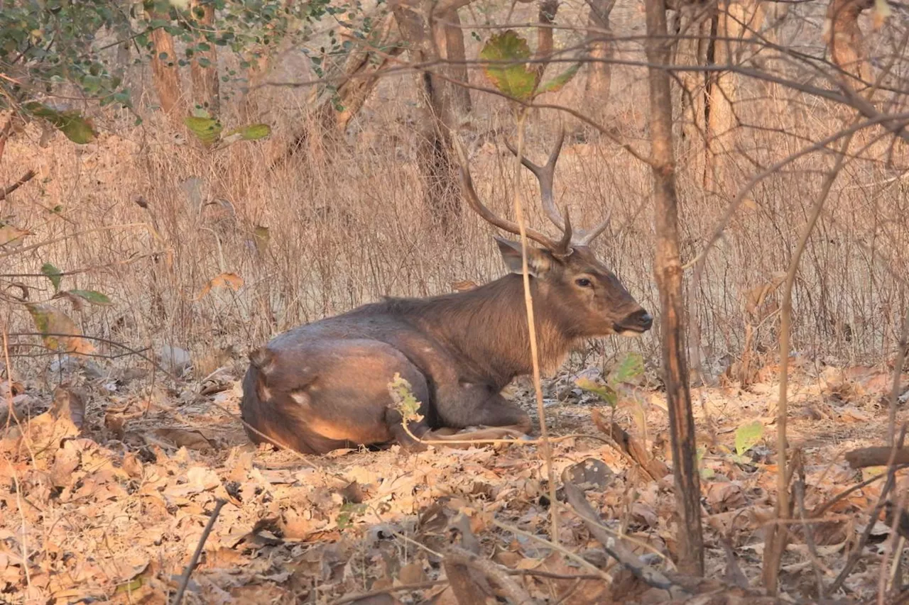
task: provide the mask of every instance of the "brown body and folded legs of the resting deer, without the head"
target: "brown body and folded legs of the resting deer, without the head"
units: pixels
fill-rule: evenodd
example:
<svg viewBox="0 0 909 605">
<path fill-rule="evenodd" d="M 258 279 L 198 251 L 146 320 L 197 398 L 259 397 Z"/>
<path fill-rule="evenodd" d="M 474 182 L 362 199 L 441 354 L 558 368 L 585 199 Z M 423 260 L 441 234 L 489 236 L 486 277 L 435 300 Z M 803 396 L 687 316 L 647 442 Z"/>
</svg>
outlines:
<svg viewBox="0 0 909 605">
<path fill-rule="evenodd" d="M 408 424 L 418 439 L 462 439 L 436 431 L 471 426 L 495 427 L 471 432 L 474 441 L 523 436 L 530 418 L 499 394 L 528 371 L 522 288 L 512 275 L 467 293 L 368 304 L 278 335 L 250 355 L 247 434 L 303 453 L 393 442 L 422 449 L 389 394 L 399 374 L 421 402 L 423 420 Z M 502 306 L 513 301 L 522 305 Z"/>
</svg>

